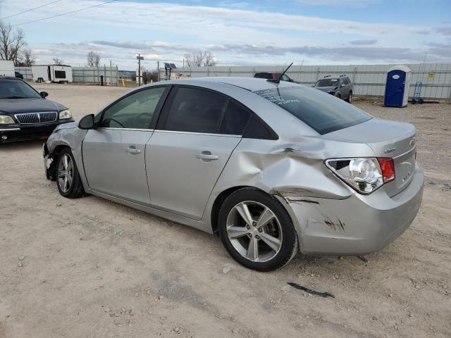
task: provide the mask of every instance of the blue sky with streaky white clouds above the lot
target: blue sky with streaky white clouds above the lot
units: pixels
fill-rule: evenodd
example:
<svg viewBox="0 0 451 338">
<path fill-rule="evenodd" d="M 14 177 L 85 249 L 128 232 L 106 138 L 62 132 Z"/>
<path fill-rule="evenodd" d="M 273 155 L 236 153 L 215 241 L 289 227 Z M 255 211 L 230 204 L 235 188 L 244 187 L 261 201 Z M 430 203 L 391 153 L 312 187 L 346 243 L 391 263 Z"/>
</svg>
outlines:
<svg viewBox="0 0 451 338">
<path fill-rule="evenodd" d="M 37 23 L 106 0 L 60 0 L 5 19 L 25 32 L 37 62 L 135 68 L 211 50 L 218 65 L 451 62 L 451 1 L 121 0 Z M 0 18 L 52 0 L 0 0 Z"/>
</svg>

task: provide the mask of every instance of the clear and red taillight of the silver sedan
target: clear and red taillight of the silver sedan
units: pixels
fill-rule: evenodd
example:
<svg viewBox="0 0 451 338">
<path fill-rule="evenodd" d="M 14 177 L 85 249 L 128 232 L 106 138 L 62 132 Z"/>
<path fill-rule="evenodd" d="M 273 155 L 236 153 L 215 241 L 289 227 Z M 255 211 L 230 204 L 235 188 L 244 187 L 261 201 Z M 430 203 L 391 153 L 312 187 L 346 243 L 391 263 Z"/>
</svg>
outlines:
<svg viewBox="0 0 451 338">
<path fill-rule="evenodd" d="M 327 167 L 361 194 L 371 194 L 384 183 L 395 180 L 393 158 L 332 158 Z"/>
</svg>

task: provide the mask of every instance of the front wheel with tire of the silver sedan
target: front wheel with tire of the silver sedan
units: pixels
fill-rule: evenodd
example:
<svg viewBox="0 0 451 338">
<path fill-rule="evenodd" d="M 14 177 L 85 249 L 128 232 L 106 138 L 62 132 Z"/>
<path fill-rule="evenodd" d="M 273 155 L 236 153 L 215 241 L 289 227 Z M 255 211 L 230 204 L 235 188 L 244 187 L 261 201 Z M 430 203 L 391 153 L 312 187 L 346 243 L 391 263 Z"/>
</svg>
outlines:
<svg viewBox="0 0 451 338">
<path fill-rule="evenodd" d="M 85 196 L 85 189 L 83 189 L 82 180 L 78 173 L 72 151 L 69 148 L 64 148 L 59 154 L 57 161 L 56 185 L 61 196 L 67 199 L 78 199 Z M 71 180 L 70 177 L 72 177 Z"/>
</svg>

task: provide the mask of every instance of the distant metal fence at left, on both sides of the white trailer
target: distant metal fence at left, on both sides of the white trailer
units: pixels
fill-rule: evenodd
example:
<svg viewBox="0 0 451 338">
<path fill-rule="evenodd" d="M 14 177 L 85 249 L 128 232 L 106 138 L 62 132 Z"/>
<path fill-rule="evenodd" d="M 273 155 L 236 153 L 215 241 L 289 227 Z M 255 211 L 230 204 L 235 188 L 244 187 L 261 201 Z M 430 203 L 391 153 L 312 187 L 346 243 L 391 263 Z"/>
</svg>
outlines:
<svg viewBox="0 0 451 338">
<path fill-rule="evenodd" d="M 32 80 L 31 67 L 16 67 L 16 72 L 23 75 L 24 80 Z M 117 67 L 72 67 L 73 82 L 100 84 L 104 77 L 104 85 L 117 86 L 119 72 Z"/>
</svg>

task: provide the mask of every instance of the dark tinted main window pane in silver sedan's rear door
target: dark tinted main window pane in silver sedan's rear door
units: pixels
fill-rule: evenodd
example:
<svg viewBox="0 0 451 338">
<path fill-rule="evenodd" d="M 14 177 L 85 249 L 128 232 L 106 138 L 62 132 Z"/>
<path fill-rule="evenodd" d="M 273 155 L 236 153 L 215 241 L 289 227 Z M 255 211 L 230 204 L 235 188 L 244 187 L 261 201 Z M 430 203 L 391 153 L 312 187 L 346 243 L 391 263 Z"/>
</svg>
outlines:
<svg viewBox="0 0 451 338">
<path fill-rule="evenodd" d="M 202 89 L 181 87 L 168 111 L 165 130 L 217 133 L 226 98 Z"/>
</svg>

